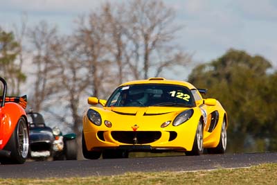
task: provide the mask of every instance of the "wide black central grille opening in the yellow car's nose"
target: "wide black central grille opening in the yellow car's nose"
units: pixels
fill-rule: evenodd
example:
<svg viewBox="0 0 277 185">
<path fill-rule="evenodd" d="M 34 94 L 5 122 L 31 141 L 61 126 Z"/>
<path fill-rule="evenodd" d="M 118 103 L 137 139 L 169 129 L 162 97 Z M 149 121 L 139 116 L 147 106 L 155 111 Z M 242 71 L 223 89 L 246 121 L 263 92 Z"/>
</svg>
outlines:
<svg viewBox="0 0 277 185">
<path fill-rule="evenodd" d="M 156 131 L 114 131 L 111 136 L 120 143 L 145 144 L 157 141 L 161 137 L 161 132 Z"/>
</svg>

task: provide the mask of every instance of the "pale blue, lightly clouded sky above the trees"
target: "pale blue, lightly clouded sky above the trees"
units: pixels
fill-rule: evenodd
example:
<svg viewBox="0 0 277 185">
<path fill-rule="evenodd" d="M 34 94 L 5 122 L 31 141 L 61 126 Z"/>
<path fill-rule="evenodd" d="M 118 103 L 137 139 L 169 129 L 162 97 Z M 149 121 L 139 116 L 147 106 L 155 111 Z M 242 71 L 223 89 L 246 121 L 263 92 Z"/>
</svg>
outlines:
<svg viewBox="0 0 277 185">
<path fill-rule="evenodd" d="M 123 0 L 110 0 L 111 3 Z M 78 15 L 89 14 L 106 0 L 0 0 L 0 26 L 11 29 L 28 15 L 28 26 L 39 21 L 71 33 Z M 178 44 L 195 63 L 211 62 L 228 49 L 262 55 L 277 69 L 276 0 L 163 0 L 176 10 L 175 23 L 184 28 Z"/>
</svg>

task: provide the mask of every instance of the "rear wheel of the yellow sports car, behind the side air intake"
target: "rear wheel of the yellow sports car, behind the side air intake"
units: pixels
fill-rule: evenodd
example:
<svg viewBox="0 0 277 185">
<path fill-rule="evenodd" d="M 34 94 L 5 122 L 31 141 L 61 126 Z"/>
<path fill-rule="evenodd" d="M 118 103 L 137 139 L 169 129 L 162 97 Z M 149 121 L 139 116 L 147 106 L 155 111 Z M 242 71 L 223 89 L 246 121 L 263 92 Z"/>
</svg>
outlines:
<svg viewBox="0 0 277 185">
<path fill-rule="evenodd" d="M 209 154 L 224 154 L 227 146 L 227 130 L 225 119 L 222 122 L 222 128 L 220 133 L 220 143 L 215 148 L 207 148 Z"/>
</svg>

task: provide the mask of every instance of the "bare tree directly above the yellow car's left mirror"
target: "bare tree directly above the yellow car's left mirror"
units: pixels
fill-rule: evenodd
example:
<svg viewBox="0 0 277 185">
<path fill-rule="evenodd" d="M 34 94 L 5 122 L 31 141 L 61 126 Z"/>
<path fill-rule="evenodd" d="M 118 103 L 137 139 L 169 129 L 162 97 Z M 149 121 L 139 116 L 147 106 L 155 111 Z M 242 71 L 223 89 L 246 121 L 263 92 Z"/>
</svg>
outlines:
<svg viewBox="0 0 277 185">
<path fill-rule="evenodd" d="M 89 69 L 87 79 L 90 82 L 91 94 L 101 96 L 104 90 L 102 85 L 105 84 L 106 71 L 110 64 L 107 58 L 109 55 L 107 53 L 107 27 L 104 18 L 98 13 L 91 12 L 88 21 L 86 20 L 85 17 L 79 17 L 75 38 L 79 43 L 83 64 Z"/>
</svg>

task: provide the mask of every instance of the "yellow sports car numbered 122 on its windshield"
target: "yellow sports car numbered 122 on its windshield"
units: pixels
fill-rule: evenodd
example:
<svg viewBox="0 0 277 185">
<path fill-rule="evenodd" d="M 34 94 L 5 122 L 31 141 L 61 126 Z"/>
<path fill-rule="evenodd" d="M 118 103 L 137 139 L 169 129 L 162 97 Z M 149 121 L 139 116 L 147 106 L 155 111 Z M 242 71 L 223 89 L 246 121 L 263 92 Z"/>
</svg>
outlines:
<svg viewBox="0 0 277 185">
<path fill-rule="evenodd" d="M 227 114 L 206 89 L 188 82 L 149 78 L 120 85 L 108 100 L 89 97 L 83 116 L 87 159 L 128 157 L 129 152 L 180 151 L 201 155 L 226 150 Z"/>
</svg>

